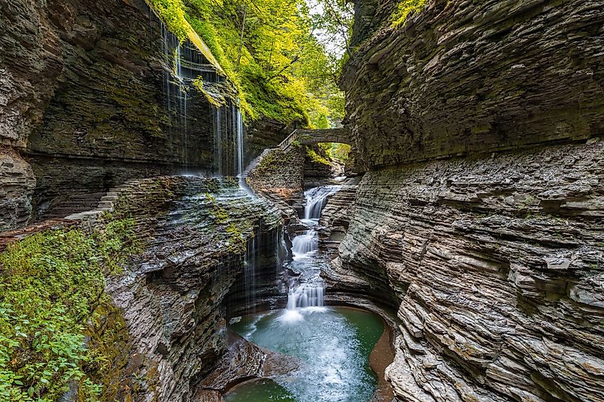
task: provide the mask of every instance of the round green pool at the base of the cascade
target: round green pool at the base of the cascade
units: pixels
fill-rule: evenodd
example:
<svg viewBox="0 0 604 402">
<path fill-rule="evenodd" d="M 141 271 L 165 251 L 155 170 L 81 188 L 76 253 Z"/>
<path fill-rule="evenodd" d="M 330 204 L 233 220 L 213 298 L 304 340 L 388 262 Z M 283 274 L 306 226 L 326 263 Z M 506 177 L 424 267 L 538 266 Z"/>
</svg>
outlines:
<svg viewBox="0 0 604 402">
<path fill-rule="evenodd" d="M 369 355 L 382 319 L 354 308 L 299 308 L 246 316 L 232 326 L 249 341 L 299 359 L 297 371 L 237 386 L 227 402 L 366 402 L 377 386 Z"/>
</svg>

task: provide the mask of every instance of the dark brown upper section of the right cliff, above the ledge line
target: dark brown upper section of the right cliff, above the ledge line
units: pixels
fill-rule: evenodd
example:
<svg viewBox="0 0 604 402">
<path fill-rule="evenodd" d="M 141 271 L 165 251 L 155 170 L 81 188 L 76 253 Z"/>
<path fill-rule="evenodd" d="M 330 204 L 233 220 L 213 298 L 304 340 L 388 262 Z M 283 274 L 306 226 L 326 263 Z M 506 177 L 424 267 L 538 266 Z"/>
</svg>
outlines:
<svg viewBox="0 0 604 402">
<path fill-rule="evenodd" d="M 357 1 L 341 81 L 365 166 L 604 134 L 601 1 L 432 0 L 398 29 L 395 4 Z"/>
</svg>

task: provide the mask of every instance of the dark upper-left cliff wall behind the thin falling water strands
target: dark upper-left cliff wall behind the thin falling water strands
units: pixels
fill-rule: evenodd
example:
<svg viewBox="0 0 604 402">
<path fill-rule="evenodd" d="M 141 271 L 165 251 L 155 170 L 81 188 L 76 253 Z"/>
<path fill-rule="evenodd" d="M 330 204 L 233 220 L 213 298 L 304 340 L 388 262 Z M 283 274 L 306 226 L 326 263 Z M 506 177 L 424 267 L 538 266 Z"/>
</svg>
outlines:
<svg viewBox="0 0 604 402">
<path fill-rule="evenodd" d="M 144 0 L 0 0 L 0 25 L 0 231 L 131 178 L 237 174 L 232 85 Z M 282 129 L 258 122 L 246 160 Z"/>
</svg>

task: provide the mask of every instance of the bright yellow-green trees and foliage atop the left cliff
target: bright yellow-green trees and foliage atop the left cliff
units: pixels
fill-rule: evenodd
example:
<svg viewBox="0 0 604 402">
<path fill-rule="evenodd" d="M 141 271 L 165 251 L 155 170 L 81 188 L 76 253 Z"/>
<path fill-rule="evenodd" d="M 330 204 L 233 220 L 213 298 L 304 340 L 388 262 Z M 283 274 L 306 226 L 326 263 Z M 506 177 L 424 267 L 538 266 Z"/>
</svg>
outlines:
<svg viewBox="0 0 604 402">
<path fill-rule="evenodd" d="M 239 91 L 248 118 L 327 128 L 344 113 L 339 68 L 302 0 L 148 0 L 179 39 L 192 27 Z"/>
</svg>

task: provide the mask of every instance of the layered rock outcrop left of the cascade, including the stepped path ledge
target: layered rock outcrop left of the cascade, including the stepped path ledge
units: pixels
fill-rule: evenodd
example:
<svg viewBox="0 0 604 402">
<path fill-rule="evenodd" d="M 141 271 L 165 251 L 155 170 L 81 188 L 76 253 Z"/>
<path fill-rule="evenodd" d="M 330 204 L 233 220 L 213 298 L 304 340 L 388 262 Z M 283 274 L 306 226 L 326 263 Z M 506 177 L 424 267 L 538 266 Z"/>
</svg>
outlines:
<svg viewBox="0 0 604 402">
<path fill-rule="evenodd" d="M 85 368 L 103 386 L 99 400 L 191 400 L 197 383 L 227 352 L 227 310 L 252 311 L 255 301 L 267 303 L 279 292 L 273 253 L 281 238 L 279 214 L 265 201 L 233 196 L 238 191 L 237 180 L 129 180 L 104 196 L 104 211 L 0 234 L 1 251 L 39 231 L 103 230 L 112 219 L 137 221 L 144 251 L 131 256 L 123 271 L 107 273 L 105 292 L 112 304 L 102 304 L 109 310 L 86 332 L 95 342 L 115 338 L 103 345 L 112 360 Z M 235 297 L 227 298 L 229 293 Z M 229 375 L 229 381 L 240 381 L 235 371 Z"/>
</svg>

